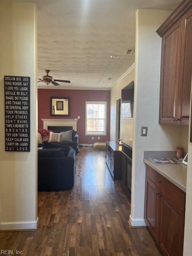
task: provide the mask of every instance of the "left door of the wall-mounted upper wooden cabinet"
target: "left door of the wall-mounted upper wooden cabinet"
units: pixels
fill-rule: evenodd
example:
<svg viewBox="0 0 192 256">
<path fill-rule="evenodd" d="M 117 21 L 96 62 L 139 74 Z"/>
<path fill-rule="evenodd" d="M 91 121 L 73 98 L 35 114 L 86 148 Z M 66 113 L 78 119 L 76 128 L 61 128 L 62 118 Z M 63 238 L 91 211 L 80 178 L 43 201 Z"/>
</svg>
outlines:
<svg viewBox="0 0 192 256">
<path fill-rule="evenodd" d="M 182 18 L 162 37 L 159 122 L 178 124 Z"/>
</svg>

